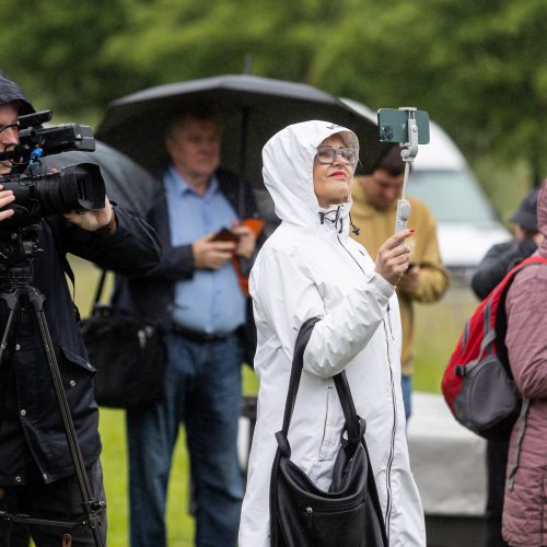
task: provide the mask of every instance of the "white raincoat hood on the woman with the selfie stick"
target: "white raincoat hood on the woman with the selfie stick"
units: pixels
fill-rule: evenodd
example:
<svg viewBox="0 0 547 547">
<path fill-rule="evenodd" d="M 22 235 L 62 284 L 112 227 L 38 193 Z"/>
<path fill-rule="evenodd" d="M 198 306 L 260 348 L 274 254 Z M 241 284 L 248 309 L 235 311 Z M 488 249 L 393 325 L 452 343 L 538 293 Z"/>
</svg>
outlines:
<svg viewBox="0 0 547 547">
<path fill-rule="evenodd" d="M 263 149 L 263 176 L 266 188 L 274 199 L 280 220 L 311 228 L 322 223 L 322 216 L 348 232 L 351 196 L 348 202 L 328 209 L 319 207 L 314 191 L 313 162 L 317 147 L 331 135 L 340 135 L 348 148 L 359 150 L 356 133 L 329 121 L 303 121 L 288 126 L 265 144 Z M 334 214 L 329 214 L 329 212 Z M 326 217 L 329 214 L 328 217 Z M 337 224 L 335 222 L 335 224 Z M 341 231 L 339 230 L 339 231 Z"/>
</svg>

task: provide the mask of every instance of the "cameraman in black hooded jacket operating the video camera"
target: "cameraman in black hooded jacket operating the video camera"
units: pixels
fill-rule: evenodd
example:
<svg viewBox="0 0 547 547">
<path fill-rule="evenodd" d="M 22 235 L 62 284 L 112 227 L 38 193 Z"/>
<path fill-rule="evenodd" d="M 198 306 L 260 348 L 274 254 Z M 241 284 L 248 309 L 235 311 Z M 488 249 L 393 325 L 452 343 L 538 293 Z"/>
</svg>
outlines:
<svg viewBox="0 0 547 547">
<path fill-rule="evenodd" d="M 33 112 L 21 89 L 0 71 L 0 151 L 18 144 L 18 116 Z M 0 174 L 5 176 L 11 165 L 7 161 L 1 163 Z M 3 189 L 2 178 L 0 176 L 0 336 L 8 330 L 9 315 L 4 296 L 10 283 L 3 279 L 10 268 L 20 264 L 16 259 L 10 261 L 7 252 L 11 248 L 12 234 L 18 231 L 9 225 L 2 226 L 2 221 L 14 214 L 10 208 L 14 196 Z M 98 408 L 93 396 L 94 369 L 86 360 L 78 313 L 65 277 L 68 267 L 66 254 L 133 276 L 156 265 L 160 245 L 144 221 L 112 207 L 107 198 L 102 210 L 53 214 L 37 224 L 37 245 L 44 252 L 35 261 L 30 284 L 45 296 L 44 313 L 92 498 L 104 501 L 98 458 Z M 20 229 L 21 233 L 27 233 L 27 230 L 28 226 Z M 67 523 L 85 519 L 44 344 L 33 310 L 25 306 L 26 302 L 14 315 L 5 351 L 0 352 L 0 545 L 26 547 L 30 537 L 37 547 L 95 545 L 93 533 L 86 525 L 22 524 L 8 516 L 24 514 Z M 106 544 L 105 511 L 100 512 L 100 533 Z"/>
</svg>

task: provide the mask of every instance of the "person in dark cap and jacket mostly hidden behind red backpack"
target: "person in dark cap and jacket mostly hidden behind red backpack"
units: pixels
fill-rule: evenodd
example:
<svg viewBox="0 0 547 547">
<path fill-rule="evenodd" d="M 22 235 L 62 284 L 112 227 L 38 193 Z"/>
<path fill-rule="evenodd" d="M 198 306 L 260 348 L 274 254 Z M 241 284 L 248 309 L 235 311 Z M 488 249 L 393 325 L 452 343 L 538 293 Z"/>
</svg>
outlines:
<svg viewBox="0 0 547 547">
<path fill-rule="evenodd" d="M 493 245 L 480 261 L 472 278 L 472 289 L 484 300 L 516 264 L 537 249 L 543 235 L 537 229 L 537 196 L 535 188 L 522 200 L 519 209 L 509 219 L 514 224 L 514 237 Z M 505 468 L 508 465 L 508 441 L 487 443 L 487 542 L 486 547 L 505 547 L 501 537 L 501 517 L 505 490 Z"/>
</svg>

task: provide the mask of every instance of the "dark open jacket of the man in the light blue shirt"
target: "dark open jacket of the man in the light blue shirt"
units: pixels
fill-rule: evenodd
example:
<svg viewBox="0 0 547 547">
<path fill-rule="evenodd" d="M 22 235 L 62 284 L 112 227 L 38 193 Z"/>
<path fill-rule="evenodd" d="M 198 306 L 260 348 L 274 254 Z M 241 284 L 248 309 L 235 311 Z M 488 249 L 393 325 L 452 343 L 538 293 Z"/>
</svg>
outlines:
<svg viewBox="0 0 547 547">
<path fill-rule="evenodd" d="M 259 218 L 251 185 L 244 183 L 242 214 L 238 207 L 238 177 L 223 170 L 219 170 L 216 174 L 219 179 L 220 190 L 228 198 L 233 209 L 238 212 L 240 217 L 245 219 Z M 146 218 L 160 237 L 163 247 L 162 258 L 160 264 L 144 277 L 118 278 L 113 303 L 168 329 L 175 300 L 175 284 L 182 279 L 190 279 L 194 276 L 195 265 L 191 245 L 173 247 L 171 244 L 167 200 L 161 181 L 158 184 L 158 199 Z M 247 299 L 247 323 L 243 330 L 245 360 L 251 364 L 256 347 L 256 330 L 251 299 Z"/>
</svg>

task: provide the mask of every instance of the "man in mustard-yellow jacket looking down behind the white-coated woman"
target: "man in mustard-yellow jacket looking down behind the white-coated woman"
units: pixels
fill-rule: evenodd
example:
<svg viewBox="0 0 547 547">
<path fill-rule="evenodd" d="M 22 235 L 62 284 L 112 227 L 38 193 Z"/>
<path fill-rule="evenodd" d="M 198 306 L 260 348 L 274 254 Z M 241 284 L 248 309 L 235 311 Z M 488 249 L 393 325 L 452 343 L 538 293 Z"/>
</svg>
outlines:
<svg viewBox="0 0 547 547">
<path fill-rule="evenodd" d="M 374 257 L 382 243 L 393 234 L 397 201 L 404 185 L 405 162 L 400 149 L 392 147 L 377 162 L 372 172 L 353 177 L 351 216 L 359 226 L 353 237 Z M 441 261 L 437 237 L 437 222 L 422 201 L 409 197 L 411 213 L 409 223 L 416 236 L 411 246 L 410 264 L 397 283 L 403 326 L 401 387 L 407 420 L 411 414 L 411 375 L 414 371 L 414 302 L 437 302 L 449 287 L 449 274 Z"/>
</svg>

